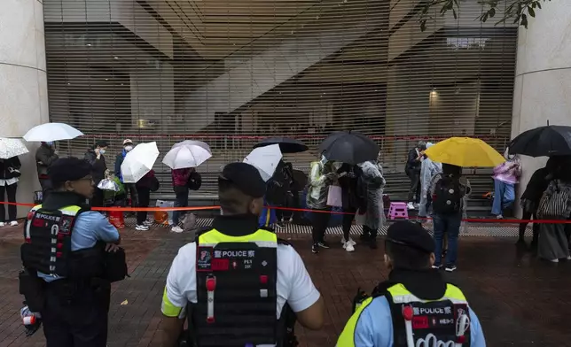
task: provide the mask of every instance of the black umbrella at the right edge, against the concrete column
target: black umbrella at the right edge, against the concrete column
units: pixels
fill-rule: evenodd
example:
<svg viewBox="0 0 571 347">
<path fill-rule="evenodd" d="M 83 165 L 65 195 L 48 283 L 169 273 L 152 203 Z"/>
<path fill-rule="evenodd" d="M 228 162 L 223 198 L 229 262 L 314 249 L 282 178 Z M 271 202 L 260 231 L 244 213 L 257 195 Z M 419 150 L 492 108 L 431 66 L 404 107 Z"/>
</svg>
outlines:
<svg viewBox="0 0 571 347">
<path fill-rule="evenodd" d="M 536 127 L 517 135 L 509 145 L 510 154 L 529 157 L 571 155 L 571 127 Z"/>
</svg>

